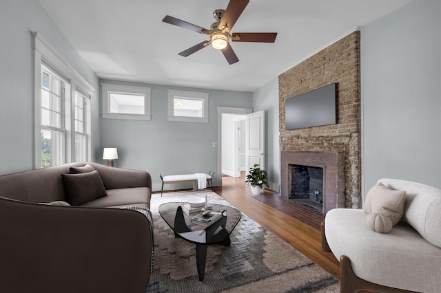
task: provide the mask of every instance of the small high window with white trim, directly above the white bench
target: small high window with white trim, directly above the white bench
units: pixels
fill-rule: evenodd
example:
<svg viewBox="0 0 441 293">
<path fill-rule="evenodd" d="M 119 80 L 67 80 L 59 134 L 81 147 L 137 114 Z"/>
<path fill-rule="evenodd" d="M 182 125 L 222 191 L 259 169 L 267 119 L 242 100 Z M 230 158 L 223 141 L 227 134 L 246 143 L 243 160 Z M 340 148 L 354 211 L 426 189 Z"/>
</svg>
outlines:
<svg viewBox="0 0 441 293">
<path fill-rule="evenodd" d="M 208 93 L 168 90 L 168 120 L 208 122 Z"/>
</svg>

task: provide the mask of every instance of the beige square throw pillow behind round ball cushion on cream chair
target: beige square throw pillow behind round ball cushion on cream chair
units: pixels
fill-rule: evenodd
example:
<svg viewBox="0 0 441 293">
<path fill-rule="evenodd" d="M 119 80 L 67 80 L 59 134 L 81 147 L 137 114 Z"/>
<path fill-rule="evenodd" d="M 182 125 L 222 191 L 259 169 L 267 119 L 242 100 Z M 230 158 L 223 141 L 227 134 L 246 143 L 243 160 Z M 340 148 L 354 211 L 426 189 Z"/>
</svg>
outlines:
<svg viewBox="0 0 441 293">
<path fill-rule="evenodd" d="M 396 225 L 404 214 L 405 195 L 406 191 L 396 191 L 378 182 L 367 193 L 365 211 L 368 214 L 386 215 L 392 220 L 392 224 Z"/>
</svg>

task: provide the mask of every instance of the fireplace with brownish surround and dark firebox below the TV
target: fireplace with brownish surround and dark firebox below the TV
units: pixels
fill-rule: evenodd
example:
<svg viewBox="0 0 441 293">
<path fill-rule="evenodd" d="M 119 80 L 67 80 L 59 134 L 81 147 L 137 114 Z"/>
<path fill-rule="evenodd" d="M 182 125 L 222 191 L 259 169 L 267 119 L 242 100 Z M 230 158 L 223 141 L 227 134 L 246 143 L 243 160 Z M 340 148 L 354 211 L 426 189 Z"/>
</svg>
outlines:
<svg viewBox="0 0 441 293">
<path fill-rule="evenodd" d="M 280 193 L 282 196 L 293 199 L 294 202 L 299 202 L 301 204 L 307 202 L 307 205 L 319 210 L 321 213 L 327 213 L 333 208 L 345 208 L 344 153 L 323 151 L 282 151 L 280 167 Z M 294 193 L 300 194 L 294 195 L 294 197 L 303 197 L 300 199 L 294 199 L 293 195 L 291 195 L 293 189 L 293 179 L 291 178 L 291 175 L 293 171 L 300 171 L 302 175 L 307 175 L 302 179 L 304 186 L 302 191 L 298 192 L 298 187 L 294 184 Z M 312 182 L 311 175 L 313 177 Z M 309 182 L 305 183 L 307 180 L 309 180 Z M 321 183 L 319 183 L 319 181 L 321 181 Z M 308 191 L 305 186 L 309 186 Z M 319 203 L 322 206 L 320 206 Z"/>
</svg>

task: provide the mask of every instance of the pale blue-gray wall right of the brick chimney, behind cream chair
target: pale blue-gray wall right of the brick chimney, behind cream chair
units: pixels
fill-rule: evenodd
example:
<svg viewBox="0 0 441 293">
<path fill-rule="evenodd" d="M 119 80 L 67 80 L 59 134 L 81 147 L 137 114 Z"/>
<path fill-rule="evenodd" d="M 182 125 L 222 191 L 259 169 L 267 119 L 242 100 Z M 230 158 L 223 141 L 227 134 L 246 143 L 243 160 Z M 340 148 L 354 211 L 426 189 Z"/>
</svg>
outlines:
<svg viewBox="0 0 441 293">
<path fill-rule="evenodd" d="M 382 177 L 441 188 L 441 2 L 362 30 L 364 193 Z"/>
</svg>

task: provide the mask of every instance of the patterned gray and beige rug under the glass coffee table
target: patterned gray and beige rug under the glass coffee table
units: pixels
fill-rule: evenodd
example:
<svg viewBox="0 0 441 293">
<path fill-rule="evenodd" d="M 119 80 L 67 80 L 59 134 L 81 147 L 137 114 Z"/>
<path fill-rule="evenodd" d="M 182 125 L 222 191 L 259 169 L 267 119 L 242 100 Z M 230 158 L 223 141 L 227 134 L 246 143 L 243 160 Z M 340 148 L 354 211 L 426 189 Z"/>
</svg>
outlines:
<svg viewBox="0 0 441 293">
<path fill-rule="evenodd" d="M 212 191 L 152 196 L 154 273 L 145 292 L 340 292 L 338 279 L 246 215 L 230 235 L 231 246 L 208 247 L 199 281 L 196 245 L 174 237 L 158 206 L 205 194 L 209 204 L 231 206 Z"/>
</svg>

